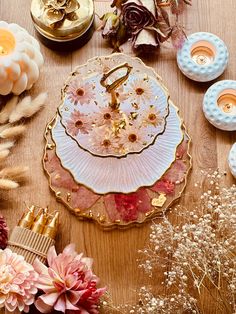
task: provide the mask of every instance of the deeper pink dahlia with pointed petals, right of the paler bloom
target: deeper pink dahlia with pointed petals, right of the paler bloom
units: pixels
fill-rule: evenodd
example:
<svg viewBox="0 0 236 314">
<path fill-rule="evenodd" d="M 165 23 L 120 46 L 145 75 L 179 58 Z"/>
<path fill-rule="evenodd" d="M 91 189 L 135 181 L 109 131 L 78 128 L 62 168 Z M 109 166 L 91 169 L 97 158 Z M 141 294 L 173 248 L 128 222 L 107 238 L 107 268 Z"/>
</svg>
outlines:
<svg viewBox="0 0 236 314">
<path fill-rule="evenodd" d="M 90 258 L 77 254 L 74 244 L 68 245 L 59 255 L 51 247 L 48 265 L 46 267 L 38 260 L 34 263 L 39 273 L 36 286 L 44 292 L 35 303 L 40 312 L 99 313 L 98 301 L 106 289 L 97 289 L 98 277 L 91 270 Z"/>
</svg>

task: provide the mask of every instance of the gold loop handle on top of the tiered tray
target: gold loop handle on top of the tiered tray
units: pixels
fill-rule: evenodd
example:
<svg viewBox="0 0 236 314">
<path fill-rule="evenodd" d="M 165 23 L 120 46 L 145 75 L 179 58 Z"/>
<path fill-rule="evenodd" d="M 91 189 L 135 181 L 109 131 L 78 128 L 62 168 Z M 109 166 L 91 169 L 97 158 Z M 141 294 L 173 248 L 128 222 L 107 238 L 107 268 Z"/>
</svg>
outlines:
<svg viewBox="0 0 236 314">
<path fill-rule="evenodd" d="M 116 81 L 114 81 L 113 83 L 111 84 L 106 84 L 106 80 L 108 79 L 108 77 L 116 72 L 117 70 L 119 69 L 122 69 L 122 68 L 127 68 L 127 72 L 125 75 L 119 77 Z M 112 107 L 112 109 L 117 109 L 119 107 L 119 100 L 117 98 L 117 95 L 116 95 L 116 92 L 115 90 L 120 86 L 122 85 L 129 77 L 129 74 L 132 70 L 132 67 L 128 64 L 128 63 L 124 63 L 124 64 L 121 64 L 121 65 L 118 65 L 117 67 L 111 69 L 109 72 L 107 73 L 104 73 L 103 77 L 101 78 L 101 85 L 103 87 L 106 88 L 106 91 L 108 93 L 111 94 L 111 103 L 110 103 L 110 106 Z"/>
</svg>

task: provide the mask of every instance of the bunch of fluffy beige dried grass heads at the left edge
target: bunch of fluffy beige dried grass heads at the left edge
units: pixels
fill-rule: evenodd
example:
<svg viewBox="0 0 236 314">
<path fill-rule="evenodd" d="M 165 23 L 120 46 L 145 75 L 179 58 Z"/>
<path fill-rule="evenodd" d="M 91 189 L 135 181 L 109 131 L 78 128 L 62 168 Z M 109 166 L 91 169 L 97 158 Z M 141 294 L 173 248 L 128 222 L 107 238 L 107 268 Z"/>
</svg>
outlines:
<svg viewBox="0 0 236 314">
<path fill-rule="evenodd" d="M 15 140 L 24 134 L 24 120 L 35 115 L 46 103 L 47 94 L 41 93 L 36 98 L 26 96 L 19 101 L 13 96 L 0 111 L 0 190 L 19 187 L 19 182 L 26 178 L 28 167 L 3 167 Z M 19 124 L 20 122 L 20 124 Z"/>
</svg>

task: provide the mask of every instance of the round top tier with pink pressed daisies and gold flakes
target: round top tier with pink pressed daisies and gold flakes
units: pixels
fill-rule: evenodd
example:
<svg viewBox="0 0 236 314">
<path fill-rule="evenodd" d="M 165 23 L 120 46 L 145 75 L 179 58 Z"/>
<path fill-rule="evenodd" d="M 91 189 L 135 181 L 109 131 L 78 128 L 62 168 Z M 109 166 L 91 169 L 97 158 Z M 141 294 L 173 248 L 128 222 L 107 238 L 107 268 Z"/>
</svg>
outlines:
<svg viewBox="0 0 236 314">
<path fill-rule="evenodd" d="M 121 158 L 141 153 L 164 133 L 168 98 L 152 69 L 114 54 L 92 59 L 72 73 L 59 113 L 80 148 Z"/>
</svg>

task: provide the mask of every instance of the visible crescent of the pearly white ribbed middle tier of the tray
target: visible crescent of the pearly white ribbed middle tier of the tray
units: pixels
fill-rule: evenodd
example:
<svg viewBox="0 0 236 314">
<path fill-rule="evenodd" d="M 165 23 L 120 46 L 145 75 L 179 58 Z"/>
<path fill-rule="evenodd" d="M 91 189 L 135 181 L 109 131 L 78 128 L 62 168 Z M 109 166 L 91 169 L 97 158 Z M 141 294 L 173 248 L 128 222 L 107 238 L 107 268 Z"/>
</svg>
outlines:
<svg viewBox="0 0 236 314">
<path fill-rule="evenodd" d="M 140 154 L 128 154 L 126 158 L 98 157 L 80 148 L 66 134 L 59 117 L 52 137 L 62 166 L 75 181 L 95 193 L 106 194 L 131 193 L 140 187 L 152 186 L 174 162 L 183 133 L 177 110 L 170 107 L 166 131 Z"/>
</svg>

